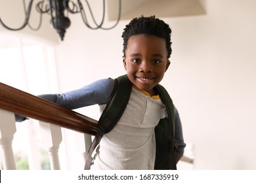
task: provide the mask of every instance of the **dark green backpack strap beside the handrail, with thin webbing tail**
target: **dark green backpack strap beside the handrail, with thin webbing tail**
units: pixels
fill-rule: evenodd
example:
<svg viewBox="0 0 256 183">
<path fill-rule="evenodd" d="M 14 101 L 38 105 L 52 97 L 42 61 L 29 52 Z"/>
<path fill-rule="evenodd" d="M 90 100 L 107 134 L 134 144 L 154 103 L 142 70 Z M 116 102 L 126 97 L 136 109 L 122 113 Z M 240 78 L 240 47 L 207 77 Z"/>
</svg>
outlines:
<svg viewBox="0 0 256 183">
<path fill-rule="evenodd" d="M 127 75 L 115 79 L 110 99 L 98 120 L 98 132 L 89 148 L 85 170 L 89 170 L 93 161 L 92 154 L 105 133 L 110 132 L 121 118 L 131 95 L 132 83 Z"/>
</svg>

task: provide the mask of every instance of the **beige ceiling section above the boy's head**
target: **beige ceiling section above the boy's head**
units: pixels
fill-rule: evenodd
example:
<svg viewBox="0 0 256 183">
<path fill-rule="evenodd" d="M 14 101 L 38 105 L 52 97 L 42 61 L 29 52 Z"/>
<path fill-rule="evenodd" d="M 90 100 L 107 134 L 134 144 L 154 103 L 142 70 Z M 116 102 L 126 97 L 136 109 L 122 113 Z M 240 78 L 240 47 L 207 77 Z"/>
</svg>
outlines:
<svg viewBox="0 0 256 183">
<path fill-rule="evenodd" d="M 206 0 L 121 0 L 121 20 L 138 16 L 175 17 L 206 14 Z M 118 0 L 108 0 L 108 18 L 116 20 Z"/>
</svg>

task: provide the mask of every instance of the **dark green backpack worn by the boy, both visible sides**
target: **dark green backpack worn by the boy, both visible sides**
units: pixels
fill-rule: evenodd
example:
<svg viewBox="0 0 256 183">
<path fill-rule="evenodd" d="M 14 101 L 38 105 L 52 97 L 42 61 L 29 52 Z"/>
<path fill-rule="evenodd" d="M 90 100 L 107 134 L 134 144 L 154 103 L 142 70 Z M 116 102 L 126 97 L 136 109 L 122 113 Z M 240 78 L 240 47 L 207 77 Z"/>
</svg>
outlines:
<svg viewBox="0 0 256 183">
<path fill-rule="evenodd" d="M 110 95 L 110 99 L 106 105 L 106 108 L 102 112 L 100 119 L 98 120 L 98 132 L 95 135 L 90 148 L 87 161 L 85 163 L 85 170 L 89 170 L 91 162 L 93 161 L 92 154 L 99 144 L 100 139 L 105 133 L 109 133 L 121 118 L 129 97 L 131 95 L 133 84 L 127 77 L 127 75 L 119 76 L 115 79 L 114 89 Z M 168 118 L 160 120 L 155 127 L 156 136 L 156 160 L 154 169 L 177 169 L 174 156 L 174 150 L 177 148 L 177 141 L 175 141 L 175 116 L 174 107 L 171 97 L 160 84 L 156 85 L 156 90 L 160 95 L 160 99 L 167 108 Z"/>
</svg>

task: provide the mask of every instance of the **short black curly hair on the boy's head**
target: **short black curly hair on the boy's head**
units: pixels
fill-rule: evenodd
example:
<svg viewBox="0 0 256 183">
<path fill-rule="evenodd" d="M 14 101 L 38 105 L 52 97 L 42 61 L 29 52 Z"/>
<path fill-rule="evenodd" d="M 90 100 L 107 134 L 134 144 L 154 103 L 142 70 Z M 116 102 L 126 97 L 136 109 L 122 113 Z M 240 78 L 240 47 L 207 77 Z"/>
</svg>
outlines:
<svg viewBox="0 0 256 183">
<path fill-rule="evenodd" d="M 171 28 L 165 24 L 163 20 L 156 18 L 156 16 L 133 18 L 129 24 L 123 29 L 123 57 L 125 57 L 125 50 L 127 42 L 133 35 L 154 35 L 165 39 L 167 48 L 167 59 L 171 56 Z"/>
</svg>

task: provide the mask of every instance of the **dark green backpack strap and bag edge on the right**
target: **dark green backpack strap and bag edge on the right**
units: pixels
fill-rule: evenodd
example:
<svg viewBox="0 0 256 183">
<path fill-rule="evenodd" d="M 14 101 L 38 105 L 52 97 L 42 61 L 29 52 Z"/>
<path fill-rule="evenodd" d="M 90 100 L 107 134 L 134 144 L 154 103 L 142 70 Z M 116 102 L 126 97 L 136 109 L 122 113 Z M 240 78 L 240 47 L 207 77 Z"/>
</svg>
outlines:
<svg viewBox="0 0 256 183">
<path fill-rule="evenodd" d="M 168 118 L 161 119 L 155 127 L 156 136 L 156 161 L 154 169 L 177 169 L 174 150 L 177 148 L 175 141 L 175 115 L 174 106 L 168 92 L 158 84 L 156 86 L 161 100 L 167 109 Z"/>
</svg>

